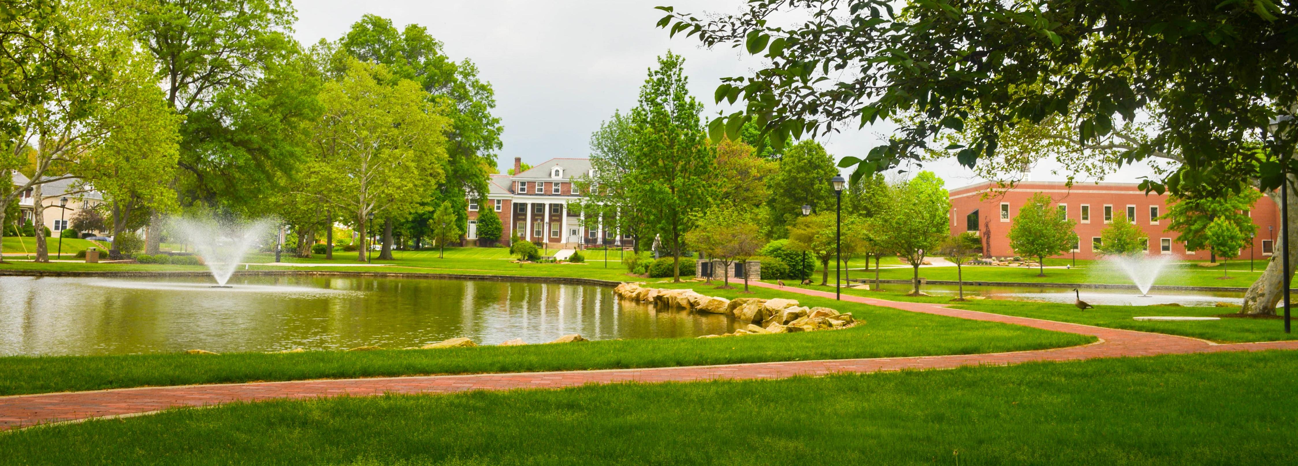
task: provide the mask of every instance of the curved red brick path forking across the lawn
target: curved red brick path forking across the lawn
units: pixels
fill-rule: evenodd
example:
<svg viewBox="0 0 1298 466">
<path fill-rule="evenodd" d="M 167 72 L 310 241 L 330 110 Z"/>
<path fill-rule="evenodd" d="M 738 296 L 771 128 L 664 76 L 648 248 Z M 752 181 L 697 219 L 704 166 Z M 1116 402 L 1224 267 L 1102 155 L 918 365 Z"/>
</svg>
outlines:
<svg viewBox="0 0 1298 466">
<path fill-rule="evenodd" d="M 766 283 L 752 284 L 774 288 L 774 286 Z M 833 297 L 833 293 L 814 289 L 783 288 L 783 291 L 820 297 Z M 1298 341 L 1212 344 L 1182 336 L 1092 327 L 1076 323 L 988 314 L 974 310 L 948 309 L 935 304 L 885 301 L 846 295 L 844 295 L 842 299 L 846 301 L 888 306 L 916 313 L 949 315 L 975 321 L 1003 322 L 1062 332 L 1093 335 L 1099 337 L 1101 341 L 1084 347 L 989 354 L 758 362 L 722 366 L 614 369 L 562 373 L 265 382 L 18 395 L 0 397 L 0 431 L 47 422 L 66 422 L 97 417 L 122 417 L 145 414 L 178 406 L 204 406 L 228 401 L 257 401 L 269 399 L 313 399 L 337 395 L 366 396 L 382 393 L 453 393 L 471 389 L 559 388 L 589 383 L 615 382 L 775 379 L 794 375 L 875 373 L 903 369 L 951 369 L 980 365 L 1011 365 L 1032 361 L 1081 361 L 1120 356 L 1298 349 Z"/>
</svg>

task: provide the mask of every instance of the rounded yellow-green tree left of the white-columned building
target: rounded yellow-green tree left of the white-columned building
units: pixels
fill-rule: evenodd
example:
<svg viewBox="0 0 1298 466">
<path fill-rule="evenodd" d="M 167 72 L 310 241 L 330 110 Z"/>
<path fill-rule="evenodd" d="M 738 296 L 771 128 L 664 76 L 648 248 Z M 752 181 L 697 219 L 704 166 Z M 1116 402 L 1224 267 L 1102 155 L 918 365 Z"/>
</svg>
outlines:
<svg viewBox="0 0 1298 466">
<path fill-rule="evenodd" d="M 350 215 L 362 238 L 366 221 L 405 218 L 422 209 L 445 173 L 448 119 L 423 88 L 391 79 L 384 65 L 353 60 L 321 91 L 324 114 L 314 129 L 322 199 Z M 358 254 L 365 261 L 365 251 Z"/>
</svg>

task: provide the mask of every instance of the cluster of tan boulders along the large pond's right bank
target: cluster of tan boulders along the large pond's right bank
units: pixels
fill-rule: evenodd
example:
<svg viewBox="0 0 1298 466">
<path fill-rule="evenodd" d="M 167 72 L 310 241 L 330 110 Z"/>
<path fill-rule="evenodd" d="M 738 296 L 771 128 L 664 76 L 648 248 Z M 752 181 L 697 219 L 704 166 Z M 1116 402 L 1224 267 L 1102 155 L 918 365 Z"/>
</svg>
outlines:
<svg viewBox="0 0 1298 466">
<path fill-rule="evenodd" d="M 753 335 L 753 334 L 792 334 L 816 330 L 848 328 L 857 325 L 851 313 L 839 313 L 829 308 L 806 308 L 796 300 L 759 297 L 739 297 L 727 300 L 724 297 L 705 296 L 693 289 L 663 289 L 645 288 L 641 283 L 623 283 L 613 288 L 613 293 L 620 299 L 652 302 L 657 306 L 693 310 L 700 313 L 727 314 L 735 317 L 741 323 L 748 323 L 744 328 L 737 328 L 726 335 L 705 335 L 701 337 Z"/>
</svg>

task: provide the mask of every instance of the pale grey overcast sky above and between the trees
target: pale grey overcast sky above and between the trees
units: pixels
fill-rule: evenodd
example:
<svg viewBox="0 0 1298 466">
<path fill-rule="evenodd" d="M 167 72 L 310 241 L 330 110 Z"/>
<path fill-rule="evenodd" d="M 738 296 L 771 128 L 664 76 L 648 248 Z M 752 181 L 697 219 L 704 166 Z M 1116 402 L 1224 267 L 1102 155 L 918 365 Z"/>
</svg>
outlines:
<svg viewBox="0 0 1298 466">
<path fill-rule="evenodd" d="M 505 126 L 501 171 L 514 157 L 539 164 L 552 157 L 587 157 L 588 140 L 615 109 L 635 106 L 645 73 L 655 57 L 671 49 L 685 57 L 693 95 L 711 105 L 718 78 L 744 75 L 759 62 L 736 49 L 704 49 L 684 36 L 668 39 L 654 27 L 678 12 L 736 12 L 742 0 L 297 0 L 296 35 L 302 44 L 337 39 L 362 14 L 391 18 L 397 27 L 418 23 L 445 44 L 454 60 L 470 58 L 479 77 L 496 90 L 496 116 Z M 733 110 L 731 110 L 733 112 Z M 844 131 L 822 143 L 837 157 L 862 157 L 887 140 L 889 127 Z M 925 164 L 948 187 L 977 182 L 954 161 Z M 1042 164 L 1033 180 L 1062 180 Z M 1147 169 L 1124 169 L 1107 182 L 1137 182 Z"/>
</svg>

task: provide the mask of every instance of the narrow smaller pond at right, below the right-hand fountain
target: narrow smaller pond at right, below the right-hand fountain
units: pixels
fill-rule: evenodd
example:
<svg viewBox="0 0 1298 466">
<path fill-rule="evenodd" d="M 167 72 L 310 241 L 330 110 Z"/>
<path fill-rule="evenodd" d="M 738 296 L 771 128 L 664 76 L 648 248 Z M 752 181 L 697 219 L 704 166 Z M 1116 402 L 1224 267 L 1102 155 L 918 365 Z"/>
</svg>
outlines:
<svg viewBox="0 0 1298 466">
<path fill-rule="evenodd" d="M 909 284 L 884 284 L 884 289 L 905 291 Z M 954 284 L 925 284 L 925 293 L 937 296 L 957 296 Z M 1081 288 L 1081 300 L 1092 305 L 1149 306 L 1176 302 L 1182 306 L 1211 306 L 1218 302 L 1241 304 L 1240 291 L 1160 291 L 1150 289 L 1149 296 L 1140 296 L 1137 289 Z M 1077 296 L 1072 288 L 1057 287 L 975 287 L 964 286 L 964 296 L 986 296 L 998 300 L 1025 300 L 1072 304 Z"/>
</svg>

